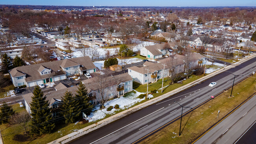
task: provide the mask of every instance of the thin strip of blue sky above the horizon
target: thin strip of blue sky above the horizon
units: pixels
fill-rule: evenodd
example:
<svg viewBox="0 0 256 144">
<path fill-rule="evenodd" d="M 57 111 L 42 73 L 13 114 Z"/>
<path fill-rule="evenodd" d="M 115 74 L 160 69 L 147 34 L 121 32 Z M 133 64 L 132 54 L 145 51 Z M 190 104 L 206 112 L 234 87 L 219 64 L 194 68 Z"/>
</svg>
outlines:
<svg viewBox="0 0 256 144">
<path fill-rule="evenodd" d="M 48 6 L 256 6 L 256 0 L 0 0 L 0 4 Z"/>
</svg>

